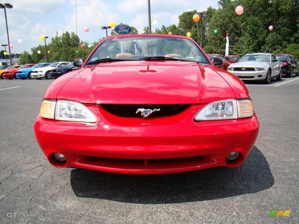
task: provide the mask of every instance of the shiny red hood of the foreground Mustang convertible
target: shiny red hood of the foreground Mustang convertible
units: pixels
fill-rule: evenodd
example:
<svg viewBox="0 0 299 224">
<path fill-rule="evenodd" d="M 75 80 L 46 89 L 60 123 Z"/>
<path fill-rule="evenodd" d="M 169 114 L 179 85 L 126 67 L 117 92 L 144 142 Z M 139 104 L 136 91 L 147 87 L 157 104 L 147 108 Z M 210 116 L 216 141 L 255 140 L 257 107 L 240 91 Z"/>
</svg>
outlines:
<svg viewBox="0 0 299 224">
<path fill-rule="evenodd" d="M 213 69 L 182 61 L 101 63 L 80 70 L 57 95 L 93 104 L 195 104 L 235 97 Z"/>
</svg>

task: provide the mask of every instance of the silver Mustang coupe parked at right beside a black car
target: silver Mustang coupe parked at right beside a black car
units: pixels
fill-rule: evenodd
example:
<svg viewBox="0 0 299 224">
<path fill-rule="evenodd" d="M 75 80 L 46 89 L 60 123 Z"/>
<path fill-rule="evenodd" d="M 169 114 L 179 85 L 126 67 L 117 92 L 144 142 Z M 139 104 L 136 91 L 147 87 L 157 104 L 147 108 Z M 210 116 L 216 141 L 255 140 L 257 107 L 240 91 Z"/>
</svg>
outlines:
<svg viewBox="0 0 299 224">
<path fill-rule="evenodd" d="M 230 64 L 227 69 L 241 80 L 264 81 L 282 79 L 282 62 L 271 53 L 245 54 L 237 63 Z"/>
</svg>

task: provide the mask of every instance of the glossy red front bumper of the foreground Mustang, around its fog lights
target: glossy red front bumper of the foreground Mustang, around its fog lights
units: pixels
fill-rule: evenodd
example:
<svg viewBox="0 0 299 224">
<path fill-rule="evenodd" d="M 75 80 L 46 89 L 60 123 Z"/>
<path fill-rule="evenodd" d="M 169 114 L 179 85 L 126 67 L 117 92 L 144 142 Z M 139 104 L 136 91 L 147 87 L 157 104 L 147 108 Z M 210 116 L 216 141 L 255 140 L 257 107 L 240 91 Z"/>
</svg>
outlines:
<svg viewBox="0 0 299 224">
<path fill-rule="evenodd" d="M 240 165 L 257 138 L 256 115 L 235 120 L 195 122 L 204 105 L 191 106 L 170 117 L 120 118 L 88 106 L 98 121 L 91 123 L 44 119 L 34 132 L 42 151 L 56 167 L 79 167 L 123 174 L 163 174 L 216 166 Z M 229 153 L 241 156 L 228 162 Z M 62 153 L 65 162 L 54 159 Z"/>
</svg>

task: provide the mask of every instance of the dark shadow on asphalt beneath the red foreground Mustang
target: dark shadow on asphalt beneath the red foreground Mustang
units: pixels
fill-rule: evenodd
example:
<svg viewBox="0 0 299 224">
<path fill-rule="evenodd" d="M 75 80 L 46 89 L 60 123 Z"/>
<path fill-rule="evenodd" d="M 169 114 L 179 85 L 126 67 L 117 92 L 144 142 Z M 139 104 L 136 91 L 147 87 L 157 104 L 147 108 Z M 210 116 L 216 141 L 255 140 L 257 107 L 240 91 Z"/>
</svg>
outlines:
<svg viewBox="0 0 299 224">
<path fill-rule="evenodd" d="M 274 184 L 269 164 L 254 146 L 237 168 L 126 175 L 74 168 L 71 187 L 77 197 L 140 204 L 165 204 L 213 200 L 266 190 Z"/>
</svg>

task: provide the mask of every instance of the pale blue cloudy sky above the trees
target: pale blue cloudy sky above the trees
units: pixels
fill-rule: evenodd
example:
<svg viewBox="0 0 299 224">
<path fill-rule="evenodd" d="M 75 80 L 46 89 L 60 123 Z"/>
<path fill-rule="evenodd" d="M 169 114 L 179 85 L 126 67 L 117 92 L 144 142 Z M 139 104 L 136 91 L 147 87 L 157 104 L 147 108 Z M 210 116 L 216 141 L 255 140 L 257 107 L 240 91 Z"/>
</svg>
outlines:
<svg viewBox="0 0 299 224">
<path fill-rule="evenodd" d="M 185 11 L 217 8 L 218 0 L 151 0 L 151 21 L 158 26 L 178 24 L 178 16 Z M 40 36 L 48 36 L 47 42 L 56 36 L 57 31 L 76 33 L 76 0 L 7 0 L 13 5 L 6 9 L 11 53 L 31 53 L 30 48 L 44 44 Z M 2 11 L 2 12 L 1 12 Z M 0 9 L 0 44 L 7 44 L 4 10 Z M 77 34 L 80 40 L 92 43 L 106 36 L 102 26 L 126 23 L 137 28 L 139 33 L 148 26 L 147 0 L 77 0 Z M 84 27 L 89 32 L 84 32 Z M 109 30 L 110 33 L 110 30 Z M 108 35 L 109 35 L 108 33 Z M 22 44 L 18 43 L 21 39 Z M 3 48 L 3 49 L 2 49 Z M 0 48 L 4 50 L 4 47 Z M 42 49 L 41 49 L 42 50 Z M 8 52 L 8 50 L 7 50 Z"/>
</svg>

